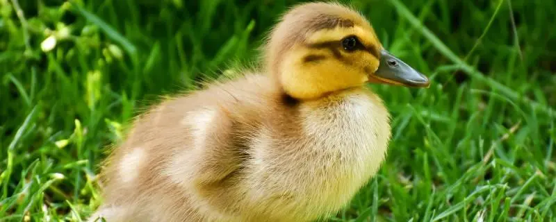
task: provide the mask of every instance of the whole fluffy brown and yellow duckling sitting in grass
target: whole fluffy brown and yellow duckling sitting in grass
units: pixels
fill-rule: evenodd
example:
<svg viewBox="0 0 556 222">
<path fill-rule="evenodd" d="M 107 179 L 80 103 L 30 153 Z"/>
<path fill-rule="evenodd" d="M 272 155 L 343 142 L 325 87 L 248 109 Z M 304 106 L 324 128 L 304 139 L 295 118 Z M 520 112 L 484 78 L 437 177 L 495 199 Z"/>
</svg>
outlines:
<svg viewBox="0 0 556 222">
<path fill-rule="evenodd" d="M 356 10 L 302 3 L 281 18 L 259 71 L 173 96 L 108 157 L 106 221 L 315 221 L 379 170 L 390 114 L 367 86 L 428 87 Z"/>
</svg>

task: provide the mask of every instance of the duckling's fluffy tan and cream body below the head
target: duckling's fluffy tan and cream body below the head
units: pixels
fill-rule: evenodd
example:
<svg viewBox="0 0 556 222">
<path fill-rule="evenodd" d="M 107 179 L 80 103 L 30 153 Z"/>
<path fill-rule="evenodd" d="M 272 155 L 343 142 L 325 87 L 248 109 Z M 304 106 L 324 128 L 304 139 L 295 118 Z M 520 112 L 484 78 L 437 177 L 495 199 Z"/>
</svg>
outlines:
<svg viewBox="0 0 556 222">
<path fill-rule="evenodd" d="M 365 87 L 287 100 L 253 74 L 161 103 L 114 151 L 98 214 L 313 221 L 341 210 L 379 169 L 389 114 Z"/>
</svg>

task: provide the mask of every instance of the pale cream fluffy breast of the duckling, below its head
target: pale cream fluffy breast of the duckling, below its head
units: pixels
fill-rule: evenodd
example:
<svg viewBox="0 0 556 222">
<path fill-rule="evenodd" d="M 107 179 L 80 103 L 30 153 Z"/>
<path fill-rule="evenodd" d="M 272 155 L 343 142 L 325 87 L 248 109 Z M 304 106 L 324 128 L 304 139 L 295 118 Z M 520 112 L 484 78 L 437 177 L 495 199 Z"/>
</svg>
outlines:
<svg viewBox="0 0 556 222">
<path fill-rule="evenodd" d="M 295 132 L 274 124 L 255 137 L 250 189 L 270 192 L 251 194 L 291 215 L 340 210 L 384 160 L 389 113 L 368 89 L 302 103 L 296 113 Z"/>
</svg>

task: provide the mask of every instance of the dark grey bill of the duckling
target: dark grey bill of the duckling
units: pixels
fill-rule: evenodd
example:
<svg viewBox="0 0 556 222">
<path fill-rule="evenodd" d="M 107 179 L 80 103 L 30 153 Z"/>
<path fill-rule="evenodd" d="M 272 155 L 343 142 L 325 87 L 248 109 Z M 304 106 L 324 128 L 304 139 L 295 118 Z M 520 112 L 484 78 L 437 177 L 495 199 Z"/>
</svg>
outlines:
<svg viewBox="0 0 556 222">
<path fill-rule="evenodd" d="M 389 51 L 380 52 L 380 65 L 374 74 L 368 76 L 371 83 L 386 83 L 406 87 L 429 87 L 427 76 L 393 56 Z"/>
</svg>

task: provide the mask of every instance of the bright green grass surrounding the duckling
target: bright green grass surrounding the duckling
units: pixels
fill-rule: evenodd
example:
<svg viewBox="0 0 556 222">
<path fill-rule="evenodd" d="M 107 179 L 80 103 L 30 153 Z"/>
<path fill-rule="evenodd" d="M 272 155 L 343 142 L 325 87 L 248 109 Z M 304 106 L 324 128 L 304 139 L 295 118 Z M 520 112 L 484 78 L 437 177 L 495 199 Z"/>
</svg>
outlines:
<svg viewBox="0 0 556 222">
<path fill-rule="evenodd" d="M 295 3 L 188 2 L 0 0 L 0 221 L 86 218 L 122 125 L 254 59 Z M 352 4 L 433 83 L 372 86 L 389 157 L 331 221 L 556 221 L 556 1 Z"/>
</svg>

